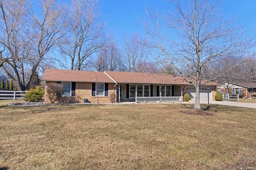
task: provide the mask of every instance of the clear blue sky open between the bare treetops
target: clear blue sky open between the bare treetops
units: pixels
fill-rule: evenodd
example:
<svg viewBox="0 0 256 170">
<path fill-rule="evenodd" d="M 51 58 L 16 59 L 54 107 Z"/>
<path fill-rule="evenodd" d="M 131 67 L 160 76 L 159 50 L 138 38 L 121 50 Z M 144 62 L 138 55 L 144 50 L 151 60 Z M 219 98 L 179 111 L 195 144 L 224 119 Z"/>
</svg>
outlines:
<svg viewBox="0 0 256 170">
<path fill-rule="evenodd" d="M 256 34 L 256 0 L 222 0 L 227 17 L 236 17 L 236 22 Z M 101 20 L 106 29 L 114 34 L 117 41 L 133 33 L 145 36 L 140 19 L 146 18 L 144 6 L 170 9 L 170 2 L 162 0 L 102 0 L 100 2 Z"/>
</svg>

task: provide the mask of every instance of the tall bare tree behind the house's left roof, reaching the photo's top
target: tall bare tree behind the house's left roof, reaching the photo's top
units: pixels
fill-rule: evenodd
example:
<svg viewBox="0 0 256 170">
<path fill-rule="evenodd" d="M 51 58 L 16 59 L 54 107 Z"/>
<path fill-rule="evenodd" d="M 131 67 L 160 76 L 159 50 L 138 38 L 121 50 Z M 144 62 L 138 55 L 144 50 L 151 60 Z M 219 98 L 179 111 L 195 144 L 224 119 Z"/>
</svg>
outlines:
<svg viewBox="0 0 256 170">
<path fill-rule="evenodd" d="M 71 59 L 71 70 L 86 67 L 86 59 L 106 45 L 104 23 L 99 20 L 98 0 L 72 0 L 68 33 L 62 54 Z"/>
</svg>

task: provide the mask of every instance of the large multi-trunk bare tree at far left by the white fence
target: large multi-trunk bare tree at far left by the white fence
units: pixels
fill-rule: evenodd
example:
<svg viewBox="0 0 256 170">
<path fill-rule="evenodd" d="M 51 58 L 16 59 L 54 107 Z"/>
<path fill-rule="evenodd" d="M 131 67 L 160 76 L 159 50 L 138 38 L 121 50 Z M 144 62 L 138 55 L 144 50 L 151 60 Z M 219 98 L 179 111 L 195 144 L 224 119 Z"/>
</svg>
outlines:
<svg viewBox="0 0 256 170">
<path fill-rule="evenodd" d="M 0 1 L 0 66 L 20 90 L 29 89 L 39 64 L 57 46 L 65 27 L 63 8 L 54 0 L 38 4 L 35 13 L 31 1 Z"/>
</svg>

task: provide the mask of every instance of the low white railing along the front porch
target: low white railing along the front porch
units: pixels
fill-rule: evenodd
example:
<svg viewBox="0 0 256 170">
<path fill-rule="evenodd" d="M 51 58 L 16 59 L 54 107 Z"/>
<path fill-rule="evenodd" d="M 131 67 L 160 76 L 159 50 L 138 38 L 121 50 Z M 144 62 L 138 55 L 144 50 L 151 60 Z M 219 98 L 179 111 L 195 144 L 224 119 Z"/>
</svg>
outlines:
<svg viewBox="0 0 256 170">
<path fill-rule="evenodd" d="M 183 96 L 170 97 L 136 97 L 136 102 L 182 102 Z"/>
</svg>

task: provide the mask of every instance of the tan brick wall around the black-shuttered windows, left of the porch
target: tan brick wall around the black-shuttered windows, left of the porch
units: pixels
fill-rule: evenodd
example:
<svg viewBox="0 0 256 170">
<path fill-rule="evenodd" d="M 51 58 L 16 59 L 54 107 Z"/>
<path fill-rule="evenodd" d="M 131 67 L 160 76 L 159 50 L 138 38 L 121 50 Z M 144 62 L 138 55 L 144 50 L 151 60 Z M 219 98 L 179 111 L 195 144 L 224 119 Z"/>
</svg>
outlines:
<svg viewBox="0 0 256 170">
<path fill-rule="evenodd" d="M 46 86 L 47 83 L 46 82 Z M 108 83 L 108 96 L 92 96 L 92 83 L 76 82 L 76 96 L 63 96 L 57 103 L 83 103 L 84 99 L 88 99 L 90 103 L 111 103 L 110 96 L 113 93 L 113 89 L 116 93 L 116 87 L 114 83 Z M 45 88 L 45 102 L 50 103 Z"/>
</svg>

